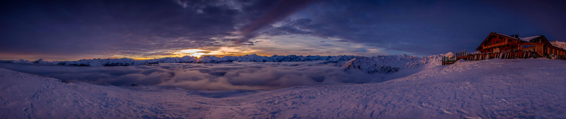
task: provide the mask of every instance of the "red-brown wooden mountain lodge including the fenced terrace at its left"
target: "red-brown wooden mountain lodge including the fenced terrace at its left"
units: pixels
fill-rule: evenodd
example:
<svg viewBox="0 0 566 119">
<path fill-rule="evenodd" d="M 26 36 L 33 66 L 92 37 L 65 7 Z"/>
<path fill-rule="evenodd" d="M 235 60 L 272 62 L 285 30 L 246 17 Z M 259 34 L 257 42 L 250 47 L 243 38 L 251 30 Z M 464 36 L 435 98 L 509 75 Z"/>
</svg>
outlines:
<svg viewBox="0 0 566 119">
<path fill-rule="evenodd" d="M 551 45 L 544 36 L 520 38 L 519 35 L 490 33 L 478 46 L 478 52 L 468 53 L 465 50 L 456 52 L 455 56 L 443 58 L 443 65 L 455 63 L 456 60 L 484 59 L 520 59 L 548 58 L 566 60 L 566 50 Z"/>
</svg>

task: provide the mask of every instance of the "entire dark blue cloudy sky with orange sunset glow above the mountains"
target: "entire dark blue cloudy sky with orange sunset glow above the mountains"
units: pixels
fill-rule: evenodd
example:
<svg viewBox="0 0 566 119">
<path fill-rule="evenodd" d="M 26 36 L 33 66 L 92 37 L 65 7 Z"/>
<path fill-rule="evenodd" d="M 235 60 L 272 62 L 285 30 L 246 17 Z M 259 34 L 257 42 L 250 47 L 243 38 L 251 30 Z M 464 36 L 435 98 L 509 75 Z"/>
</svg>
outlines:
<svg viewBox="0 0 566 119">
<path fill-rule="evenodd" d="M 490 32 L 565 42 L 562 1 L 3 1 L 0 59 L 428 56 Z"/>
</svg>

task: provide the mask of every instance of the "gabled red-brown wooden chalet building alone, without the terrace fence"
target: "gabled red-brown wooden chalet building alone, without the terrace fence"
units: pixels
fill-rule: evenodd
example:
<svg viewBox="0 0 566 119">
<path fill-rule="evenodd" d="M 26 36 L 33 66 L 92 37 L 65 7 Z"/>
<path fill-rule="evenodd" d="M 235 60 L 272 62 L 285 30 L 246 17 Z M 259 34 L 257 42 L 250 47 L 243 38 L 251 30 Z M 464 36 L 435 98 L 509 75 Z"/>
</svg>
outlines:
<svg viewBox="0 0 566 119">
<path fill-rule="evenodd" d="M 480 53 L 505 52 L 505 51 L 535 51 L 540 56 L 558 55 L 565 56 L 566 50 L 552 46 L 544 36 L 533 36 L 519 38 L 518 35 L 506 35 L 492 32 L 478 46 Z"/>
</svg>

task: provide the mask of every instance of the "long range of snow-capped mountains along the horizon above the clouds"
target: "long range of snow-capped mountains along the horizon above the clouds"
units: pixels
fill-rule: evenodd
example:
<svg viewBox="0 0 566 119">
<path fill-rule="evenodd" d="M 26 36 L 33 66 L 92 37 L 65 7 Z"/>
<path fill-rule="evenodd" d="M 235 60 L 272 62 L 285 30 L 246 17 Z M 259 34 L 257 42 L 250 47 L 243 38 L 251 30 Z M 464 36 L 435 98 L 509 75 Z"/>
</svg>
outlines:
<svg viewBox="0 0 566 119">
<path fill-rule="evenodd" d="M 424 70 L 436 65 L 441 65 L 442 56 L 454 55 L 452 52 L 441 55 L 432 56 L 409 56 L 402 55 L 381 55 L 368 58 L 366 56 L 338 55 L 338 56 L 259 56 L 256 54 L 245 56 L 183 56 L 168 57 L 160 59 L 134 60 L 130 58 L 115 59 L 82 59 L 78 61 L 52 61 L 39 59 L 37 61 L 29 60 L 10 60 L 8 63 L 38 63 L 38 64 L 60 64 L 60 65 L 77 65 L 77 66 L 129 66 L 140 64 L 158 64 L 158 63 L 231 63 L 231 62 L 281 62 L 281 61 L 313 61 L 326 60 L 320 64 L 332 64 L 335 67 L 344 68 L 345 72 L 353 70 L 361 70 L 367 73 L 391 74 L 405 69 Z"/>
</svg>

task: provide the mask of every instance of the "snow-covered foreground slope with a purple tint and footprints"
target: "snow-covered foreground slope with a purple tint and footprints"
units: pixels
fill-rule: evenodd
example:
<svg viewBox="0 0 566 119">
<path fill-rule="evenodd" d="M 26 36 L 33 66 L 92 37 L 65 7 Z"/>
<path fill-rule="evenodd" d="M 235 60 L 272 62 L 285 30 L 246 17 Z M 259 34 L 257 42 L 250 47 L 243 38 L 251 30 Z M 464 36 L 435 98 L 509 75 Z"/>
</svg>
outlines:
<svg viewBox="0 0 566 119">
<path fill-rule="evenodd" d="M 566 61 L 458 61 L 381 83 L 265 90 L 69 83 L 0 68 L 5 118 L 566 118 Z"/>
</svg>

